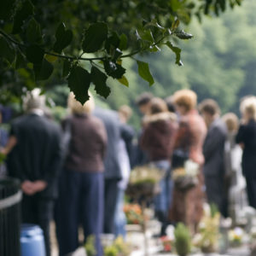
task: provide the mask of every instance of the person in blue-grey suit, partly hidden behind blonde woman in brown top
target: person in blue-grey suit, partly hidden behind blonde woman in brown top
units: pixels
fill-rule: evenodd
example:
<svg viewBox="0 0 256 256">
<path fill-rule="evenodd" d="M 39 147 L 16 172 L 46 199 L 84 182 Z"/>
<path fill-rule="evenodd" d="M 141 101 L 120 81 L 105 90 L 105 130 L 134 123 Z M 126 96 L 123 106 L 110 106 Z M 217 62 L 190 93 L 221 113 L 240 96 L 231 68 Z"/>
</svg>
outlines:
<svg viewBox="0 0 256 256">
<path fill-rule="evenodd" d="M 94 114 L 102 119 L 105 125 L 108 143 L 107 154 L 105 155 L 104 166 L 104 225 L 105 234 L 114 233 L 114 212 L 117 204 L 118 183 L 122 178 L 119 164 L 119 141 L 121 139 L 120 123 L 118 113 L 113 110 L 96 108 Z"/>
</svg>

